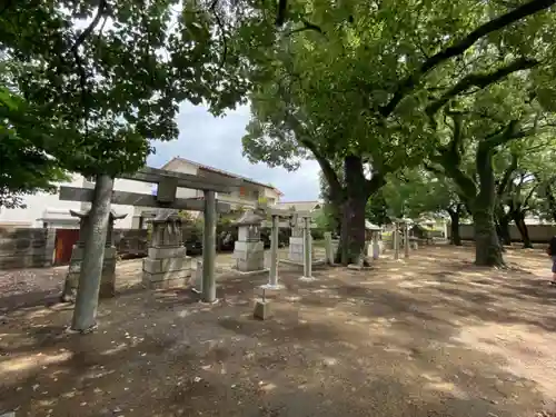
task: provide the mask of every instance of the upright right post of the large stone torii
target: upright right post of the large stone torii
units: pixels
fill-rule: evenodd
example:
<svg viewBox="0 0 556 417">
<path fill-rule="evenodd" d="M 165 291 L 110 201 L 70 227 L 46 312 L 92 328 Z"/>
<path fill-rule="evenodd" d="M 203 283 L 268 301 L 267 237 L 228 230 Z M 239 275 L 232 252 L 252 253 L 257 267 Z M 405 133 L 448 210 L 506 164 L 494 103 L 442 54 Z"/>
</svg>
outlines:
<svg viewBox="0 0 556 417">
<path fill-rule="evenodd" d="M 202 296 L 205 302 L 216 301 L 216 193 L 205 190 L 205 230 L 202 239 Z"/>
</svg>

